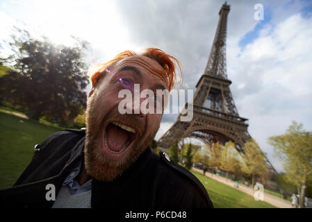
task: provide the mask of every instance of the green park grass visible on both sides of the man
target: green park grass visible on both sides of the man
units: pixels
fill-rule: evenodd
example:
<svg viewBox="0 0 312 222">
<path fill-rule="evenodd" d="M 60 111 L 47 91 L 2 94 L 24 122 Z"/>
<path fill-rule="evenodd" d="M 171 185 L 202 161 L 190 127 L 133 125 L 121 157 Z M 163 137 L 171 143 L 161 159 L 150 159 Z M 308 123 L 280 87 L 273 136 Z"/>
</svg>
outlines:
<svg viewBox="0 0 312 222">
<path fill-rule="evenodd" d="M 0 108 L 0 189 L 12 187 L 33 157 L 33 147 L 60 128 L 26 119 L 24 114 Z M 204 185 L 217 208 L 274 208 L 274 205 L 202 173 L 191 171 Z"/>
</svg>

